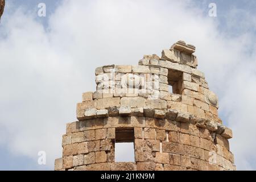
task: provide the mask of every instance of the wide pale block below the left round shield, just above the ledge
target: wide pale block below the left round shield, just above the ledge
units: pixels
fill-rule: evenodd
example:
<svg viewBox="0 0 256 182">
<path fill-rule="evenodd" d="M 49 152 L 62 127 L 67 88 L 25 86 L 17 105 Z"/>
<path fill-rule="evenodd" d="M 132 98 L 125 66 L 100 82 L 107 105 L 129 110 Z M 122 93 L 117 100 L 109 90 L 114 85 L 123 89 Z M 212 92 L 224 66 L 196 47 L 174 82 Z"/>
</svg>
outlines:
<svg viewBox="0 0 256 182">
<path fill-rule="evenodd" d="M 146 105 L 146 100 L 142 97 L 123 97 L 121 98 L 121 106 L 134 107 L 144 107 Z"/>
</svg>

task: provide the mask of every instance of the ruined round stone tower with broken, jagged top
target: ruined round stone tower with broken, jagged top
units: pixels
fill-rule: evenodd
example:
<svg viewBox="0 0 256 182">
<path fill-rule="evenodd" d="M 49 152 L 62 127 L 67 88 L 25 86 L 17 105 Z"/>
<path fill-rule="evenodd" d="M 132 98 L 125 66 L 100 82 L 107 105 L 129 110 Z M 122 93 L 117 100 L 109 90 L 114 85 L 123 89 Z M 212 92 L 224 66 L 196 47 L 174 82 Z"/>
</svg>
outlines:
<svg viewBox="0 0 256 182">
<path fill-rule="evenodd" d="M 232 130 L 183 41 L 139 65 L 96 68 L 96 92 L 82 94 L 55 170 L 235 170 Z M 134 142 L 133 162 L 115 162 L 115 143 Z"/>
</svg>

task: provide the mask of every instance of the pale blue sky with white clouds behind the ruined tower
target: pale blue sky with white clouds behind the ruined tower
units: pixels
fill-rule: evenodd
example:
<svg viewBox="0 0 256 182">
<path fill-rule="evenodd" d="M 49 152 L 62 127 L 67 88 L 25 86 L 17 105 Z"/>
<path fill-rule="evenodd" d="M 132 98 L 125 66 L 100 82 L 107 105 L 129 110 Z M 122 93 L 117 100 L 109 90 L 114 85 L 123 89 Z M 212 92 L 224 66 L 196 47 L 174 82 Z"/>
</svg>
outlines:
<svg viewBox="0 0 256 182">
<path fill-rule="evenodd" d="M 46 16 L 38 16 L 38 4 Z M 209 16 L 215 3 L 217 16 Z M 256 2 L 6 1 L 0 24 L 0 169 L 53 170 L 94 70 L 137 65 L 177 40 L 196 46 L 239 170 L 256 169 Z M 46 164 L 39 164 L 39 151 Z M 124 148 L 125 152 L 125 148 Z M 125 155 L 125 154 L 124 154 Z"/>
</svg>

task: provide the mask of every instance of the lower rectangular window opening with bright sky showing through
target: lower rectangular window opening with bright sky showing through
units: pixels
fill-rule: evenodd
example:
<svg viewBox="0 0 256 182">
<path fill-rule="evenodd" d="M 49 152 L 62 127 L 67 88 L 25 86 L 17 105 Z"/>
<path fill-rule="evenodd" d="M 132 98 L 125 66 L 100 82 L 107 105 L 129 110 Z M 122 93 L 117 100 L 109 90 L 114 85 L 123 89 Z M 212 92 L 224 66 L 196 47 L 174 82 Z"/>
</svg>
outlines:
<svg viewBox="0 0 256 182">
<path fill-rule="evenodd" d="M 134 129 L 115 129 L 115 162 L 135 162 Z"/>
</svg>

